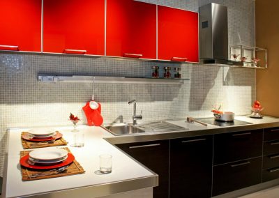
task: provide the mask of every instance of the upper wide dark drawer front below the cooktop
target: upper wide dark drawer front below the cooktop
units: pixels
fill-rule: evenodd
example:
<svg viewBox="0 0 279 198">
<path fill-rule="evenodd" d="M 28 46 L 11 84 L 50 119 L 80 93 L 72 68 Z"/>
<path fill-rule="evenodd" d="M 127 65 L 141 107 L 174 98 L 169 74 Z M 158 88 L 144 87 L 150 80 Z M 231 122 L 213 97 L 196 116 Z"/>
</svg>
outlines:
<svg viewBox="0 0 279 198">
<path fill-rule="evenodd" d="M 219 165 L 262 155 L 262 130 L 214 135 L 213 164 Z"/>
</svg>

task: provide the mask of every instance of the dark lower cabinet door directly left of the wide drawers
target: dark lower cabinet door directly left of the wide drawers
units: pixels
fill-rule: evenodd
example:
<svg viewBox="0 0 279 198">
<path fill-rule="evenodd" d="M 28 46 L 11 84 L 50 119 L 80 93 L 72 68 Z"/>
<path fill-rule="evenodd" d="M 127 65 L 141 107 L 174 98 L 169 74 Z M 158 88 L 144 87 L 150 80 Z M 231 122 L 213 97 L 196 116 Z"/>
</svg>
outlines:
<svg viewBox="0 0 279 198">
<path fill-rule="evenodd" d="M 169 197 L 211 197 L 212 135 L 171 139 Z"/>
</svg>

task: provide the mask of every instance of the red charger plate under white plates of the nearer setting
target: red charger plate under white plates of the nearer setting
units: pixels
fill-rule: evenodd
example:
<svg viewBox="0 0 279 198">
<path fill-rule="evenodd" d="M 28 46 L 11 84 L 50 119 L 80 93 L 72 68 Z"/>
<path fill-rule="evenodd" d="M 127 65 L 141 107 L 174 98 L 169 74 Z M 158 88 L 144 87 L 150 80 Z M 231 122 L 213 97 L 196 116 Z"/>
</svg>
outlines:
<svg viewBox="0 0 279 198">
<path fill-rule="evenodd" d="M 30 169 L 56 169 L 56 168 L 60 168 L 66 165 L 70 165 L 71 162 L 73 162 L 75 160 L 75 156 L 72 153 L 68 153 L 68 158 L 58 164 L 52 164 L 52 165 L 30 165 L 29 162 L 29 154 L 24 155 L 22 158 L 20 158 L 20 165 L 30 168 Z"/>
</svg>

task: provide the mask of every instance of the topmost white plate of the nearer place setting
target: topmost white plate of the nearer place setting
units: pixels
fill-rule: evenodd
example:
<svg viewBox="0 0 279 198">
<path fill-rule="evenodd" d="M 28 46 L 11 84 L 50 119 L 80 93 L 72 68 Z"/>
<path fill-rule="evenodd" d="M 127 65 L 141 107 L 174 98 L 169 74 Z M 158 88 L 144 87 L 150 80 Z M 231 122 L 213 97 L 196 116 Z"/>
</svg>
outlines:
<svg viewBox="0 0 279 198">
<path fill-rule="evenodd" d="M 68 155 L 68 151 L 62 148 L 38 148 L 29 153 L 29 156 L 36 160 L 57 160 Z"/>
</svg>

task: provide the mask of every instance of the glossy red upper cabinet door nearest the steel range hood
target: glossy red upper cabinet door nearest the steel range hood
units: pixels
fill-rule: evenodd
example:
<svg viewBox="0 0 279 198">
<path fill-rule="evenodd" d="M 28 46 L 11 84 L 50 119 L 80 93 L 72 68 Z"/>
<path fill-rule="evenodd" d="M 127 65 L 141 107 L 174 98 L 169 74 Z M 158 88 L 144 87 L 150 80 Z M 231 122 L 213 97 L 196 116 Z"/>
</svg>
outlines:
<svg viewBox="0 0 279 198">
<path fill-rule="evenodd" d="M 158 6 L 158 59 L 199 61 L 198 13 Z"/>
</svg>

